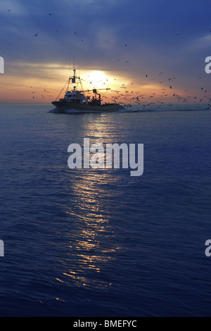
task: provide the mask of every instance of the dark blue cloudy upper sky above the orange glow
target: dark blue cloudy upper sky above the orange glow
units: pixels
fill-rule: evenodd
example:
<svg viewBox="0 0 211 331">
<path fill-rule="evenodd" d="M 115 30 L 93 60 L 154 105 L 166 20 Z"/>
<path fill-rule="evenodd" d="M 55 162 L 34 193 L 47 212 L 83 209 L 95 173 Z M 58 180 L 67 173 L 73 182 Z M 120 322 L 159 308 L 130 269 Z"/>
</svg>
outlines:
<svg viewBox="0 0 211 331">
<path fill-rule="evenodd" d="M 1 0 L 5 75 L 41 78 L 47 72 L 34 65 L 65 66 L 75 58 L 79 68 L 120 73 L 140 85 L 146 74 L 158 82 L 162 72 L 166 85 L 178 77 L 177 91 L 209 89 L 210 9 L 208 0 Z"/>
</svg>

